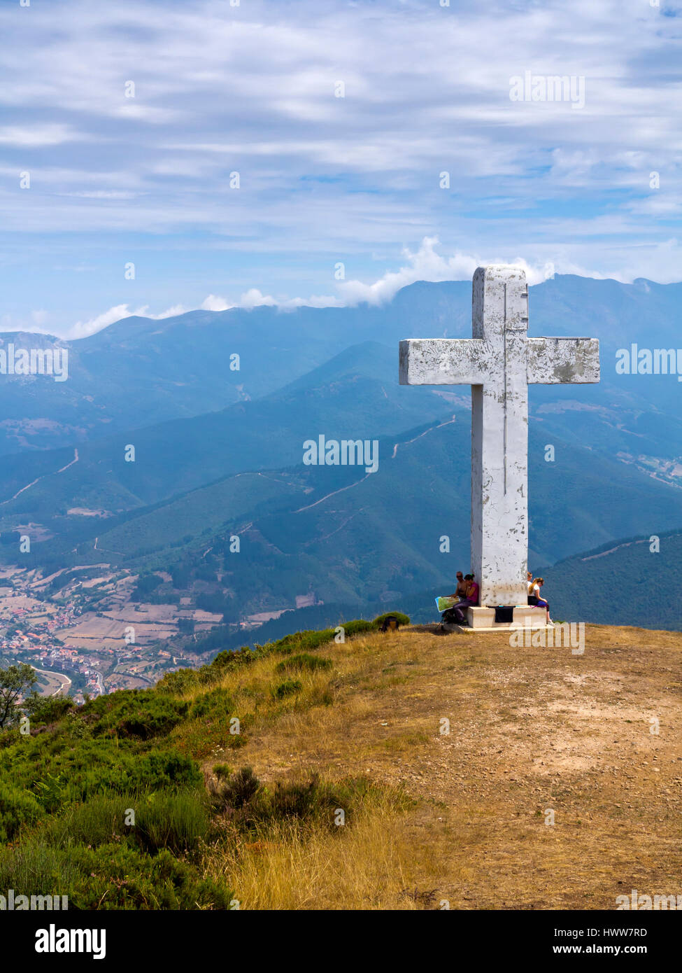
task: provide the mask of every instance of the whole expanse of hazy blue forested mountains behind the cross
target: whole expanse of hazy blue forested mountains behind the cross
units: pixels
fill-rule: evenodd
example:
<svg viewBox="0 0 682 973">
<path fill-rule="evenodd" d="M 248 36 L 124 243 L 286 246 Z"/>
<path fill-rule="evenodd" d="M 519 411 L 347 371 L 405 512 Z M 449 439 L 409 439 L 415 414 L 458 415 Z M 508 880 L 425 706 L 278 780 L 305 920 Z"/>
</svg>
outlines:
<svg viewBox="0 0 682 973">
<path fill-rule="evenodd" d="M 677 345 L 681 288 L 558 276 L 531 289 L 530 334 L 601 342 L 599 385 L 530 389 L 530 560 L 548 575 L 598 545 L 682 527 L 682 389 L 615 370 L 628 342 Z M 468 337 L 470 302 L 468 283 L 418 283 L 381 307 L 126 318 L 71 342 L 68 381 L 3 376 L 0 401 L 15 396 L 3 538 L 28 532 L 36 565 L 148 571 L 205 569 L 238 535 L 238 555 L 208 562 L 214 594 L 243 612 L 309 593 L 362 606 L 446 591 L 468 566 L 469 389 L 398 385 L 397 342 Z M 377 472 L 304 465 L 319 435 L 376 440 Z"/>
</svg>

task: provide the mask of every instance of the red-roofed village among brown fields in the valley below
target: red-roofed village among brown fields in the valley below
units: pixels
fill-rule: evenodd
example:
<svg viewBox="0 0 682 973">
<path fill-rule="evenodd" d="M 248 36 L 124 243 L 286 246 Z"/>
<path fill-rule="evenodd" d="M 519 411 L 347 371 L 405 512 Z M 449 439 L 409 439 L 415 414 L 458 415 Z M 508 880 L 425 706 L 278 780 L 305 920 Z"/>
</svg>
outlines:
<svg viewBox="0 0 682 973">
<path fill-rule="evenodd" d="M 164 646 L 182 631 L 209 631 L 221 616 L 192 608 L 190 598 L 180 605 L 134 603 L 135 581 L 109 564 L 47 577 L 39 569 L 0 568 L 0 667 L 27 663 L 43 695 L 83 703 L 86 696 L 153 686 L 167 671 L 204 662 L 187 647 L 178 656 L 169 651 L 172 643 Z"/>
</svg>

